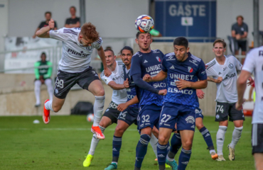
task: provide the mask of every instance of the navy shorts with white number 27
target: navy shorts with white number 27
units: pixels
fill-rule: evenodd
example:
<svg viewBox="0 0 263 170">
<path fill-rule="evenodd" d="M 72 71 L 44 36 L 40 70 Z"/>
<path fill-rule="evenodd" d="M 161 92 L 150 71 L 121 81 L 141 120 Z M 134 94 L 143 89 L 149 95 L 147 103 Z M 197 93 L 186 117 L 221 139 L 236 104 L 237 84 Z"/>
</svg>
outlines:
<svg viewBox="0 0 263 170">
<path fill-rule="evenodd" d="M 177 124 L 177 129 L 176 129 Z M 164 103 L 160 115 L 160 128 L 195 131 L 195 108 L 176 103 Z"/>
</svg>

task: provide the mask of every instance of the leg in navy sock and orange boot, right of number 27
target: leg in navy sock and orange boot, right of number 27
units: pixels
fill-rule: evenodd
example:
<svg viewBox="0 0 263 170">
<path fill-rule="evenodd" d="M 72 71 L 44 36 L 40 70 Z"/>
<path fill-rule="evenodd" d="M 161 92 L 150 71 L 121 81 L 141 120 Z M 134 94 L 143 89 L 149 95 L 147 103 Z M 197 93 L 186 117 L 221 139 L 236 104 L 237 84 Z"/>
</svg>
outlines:
<svg viewBox="0 0 263 170">
<path fill-rule="evenodd" d="M 198 114 L 201 114 L 201 113 L 196 113 L 195 115 L 198 116 Z M 210 152 L 212 159 L 218 159 L 218 154 L 216 154 L 216 152 L 215 152 L 215 147 L 213 145 L 213 140 L 212 140 L 211 134 L 210 134 L 209 130 L 207 128 L 205 128 L 205 126 L 203 125 L 203 117 L 202 118 L 197 118 L 197 117 L 195 118 L 195 126 L 196 126 L 196 128 L 198 128 L 199 132 L 203 135 L 205 143 L 206 143 L 206 145 L 208 145 L 208 150 Z"/>
</svg>

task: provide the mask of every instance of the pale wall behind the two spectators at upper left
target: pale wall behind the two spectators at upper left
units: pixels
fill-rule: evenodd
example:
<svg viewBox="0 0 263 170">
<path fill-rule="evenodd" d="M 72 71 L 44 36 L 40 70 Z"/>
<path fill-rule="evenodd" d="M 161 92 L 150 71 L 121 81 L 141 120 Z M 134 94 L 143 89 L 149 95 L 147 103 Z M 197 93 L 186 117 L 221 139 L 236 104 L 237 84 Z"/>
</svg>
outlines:
<svg viewBox="0 0 263 170">
<path fill-rule="evenodd" d="M 41 21 L 45 21 L 45 12 L 50 11 L 52 18 L 62 28 L 65 19 L 70 17 L 69 8 L 80 5 L 77 0 L 9 0 L 9 36 L 32 36 Z"/>
</svg>

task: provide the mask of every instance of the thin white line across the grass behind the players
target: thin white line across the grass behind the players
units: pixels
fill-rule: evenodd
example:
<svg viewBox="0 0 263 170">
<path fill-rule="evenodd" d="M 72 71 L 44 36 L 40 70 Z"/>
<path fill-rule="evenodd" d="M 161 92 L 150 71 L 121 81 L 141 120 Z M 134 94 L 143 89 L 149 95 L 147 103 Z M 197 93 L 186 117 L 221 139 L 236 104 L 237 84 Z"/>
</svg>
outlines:
<svg viewBox="0 0 263 170">
<path fill-rule="evenodd" d="M 90 130 L 90 128 L 0 128 L 0 131 L 7 131 L 7 130 Z M 106 130 L 114 131 L 114 128 L 107 128 Z M 126 131 L 136 132 L 136 129 L 127 129 Z M 198 132 L 198 130 L 195 130 Z M 217 133 L 218 131 L 209 131 L 210 133 Z M 227 133 L 232 133 L 232 131 L 227 131 Z M 242 133 L 251 133 L 251 131 L 242 131 Z"/>
</svg>

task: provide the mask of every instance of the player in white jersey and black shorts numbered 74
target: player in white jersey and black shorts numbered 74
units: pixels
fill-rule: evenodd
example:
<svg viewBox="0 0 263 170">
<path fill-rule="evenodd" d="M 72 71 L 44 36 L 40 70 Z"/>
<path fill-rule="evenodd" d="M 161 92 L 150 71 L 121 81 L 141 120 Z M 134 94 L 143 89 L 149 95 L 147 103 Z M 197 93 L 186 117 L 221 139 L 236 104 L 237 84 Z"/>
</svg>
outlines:
<svg viewBox="0 0 263 170">
<path fill-rule="evenodd" d="M 225 56 L 226 43 L 224 40 L 215 40 L 213 43 L 213 52 L 215 59 L 210 61 L 206 67 L 208 81 L 216 83 L 218 88 L 215 101 L 215 121 L 219 122 L 219 129 L 216 135 L 218 148 L 218 161 L 225 161 L 222 156 L 222 147 L 227 131 L 228 117 L 235 125 L 232 133 L 232 142 L 228 145 L 229 159 L 235 160 L 235 145 L 240 140 L 243 121 L 245 120 L 243 111 L 237 111 L 235 103 L 237 102 L 237 71 L 241 70 L 242 64 L 236 57 Z M 210 78 L 210 77 L 213 78 Z"/>
</svg>

